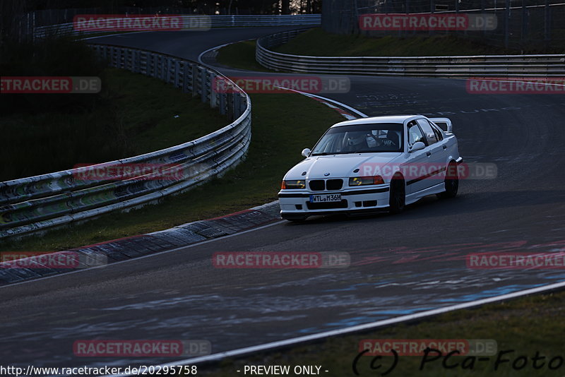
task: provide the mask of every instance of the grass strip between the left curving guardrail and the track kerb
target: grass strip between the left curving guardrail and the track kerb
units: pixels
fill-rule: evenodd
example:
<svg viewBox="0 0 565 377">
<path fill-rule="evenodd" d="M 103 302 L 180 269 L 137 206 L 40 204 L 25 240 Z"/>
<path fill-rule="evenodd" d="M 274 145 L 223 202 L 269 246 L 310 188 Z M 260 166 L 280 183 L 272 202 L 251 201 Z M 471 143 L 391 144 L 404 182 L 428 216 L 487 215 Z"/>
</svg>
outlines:
<svg viewBox="0 0 565 377">
<path fill-rule="evenodd" d="M 179 196 L 165 198 L 129 213 L 112 213 L 87 222 L 55 229 L 44 236 L 6 240 L 0 251 L 58 251 L 109 239 L 167 229 L 274 201 L 280 180 L 300 151 L 311 148 L 323 131 L 338 121 L 337 112 L 324 104 L 295 94 L 251 95 L 252 136 L 242 164 Z"/>
</svg>

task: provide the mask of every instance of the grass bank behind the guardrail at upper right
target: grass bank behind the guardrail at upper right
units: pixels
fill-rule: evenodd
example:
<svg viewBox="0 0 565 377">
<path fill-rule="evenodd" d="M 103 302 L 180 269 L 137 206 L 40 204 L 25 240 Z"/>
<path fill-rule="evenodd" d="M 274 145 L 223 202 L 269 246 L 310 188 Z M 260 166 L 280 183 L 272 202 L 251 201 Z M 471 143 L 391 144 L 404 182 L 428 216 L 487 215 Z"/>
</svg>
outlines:
<svg viewBox="0 0 565 377">
<path fill-rule="evenodd" d="M 539 47 L 542 48 L 541 46 Z M 276 52 L 310 56 L 448 56 L 520 54 L 455 35 L 415 37 L 364 37 L 337 35 L 314 28 L 273 49 Z M 557 49 L 563 52 L 563 48 Z M 526 53 L 539 53 L 533 47 Z"/>
</svg>

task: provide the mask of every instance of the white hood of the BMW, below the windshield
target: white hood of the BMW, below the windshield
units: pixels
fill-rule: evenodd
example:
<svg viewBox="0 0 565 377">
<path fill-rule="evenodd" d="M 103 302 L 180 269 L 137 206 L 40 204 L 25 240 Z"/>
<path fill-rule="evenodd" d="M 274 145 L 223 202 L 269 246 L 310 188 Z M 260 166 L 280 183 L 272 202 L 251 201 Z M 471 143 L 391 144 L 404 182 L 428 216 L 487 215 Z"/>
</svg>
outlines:
<svg viewBox="0 0 565 377">
<path fill-rule="evenodd" d="M 388 164 L 402 155 L 402 152 L 382 152 L 378 155 L 359 153 L 308 157 L 290 169 L 285 179 L 347 178 L 358 175 L 353 170 L 361 168 L 363 164 Z M 359 173 L 361 175 L 362 172 Z"/>
</svg>

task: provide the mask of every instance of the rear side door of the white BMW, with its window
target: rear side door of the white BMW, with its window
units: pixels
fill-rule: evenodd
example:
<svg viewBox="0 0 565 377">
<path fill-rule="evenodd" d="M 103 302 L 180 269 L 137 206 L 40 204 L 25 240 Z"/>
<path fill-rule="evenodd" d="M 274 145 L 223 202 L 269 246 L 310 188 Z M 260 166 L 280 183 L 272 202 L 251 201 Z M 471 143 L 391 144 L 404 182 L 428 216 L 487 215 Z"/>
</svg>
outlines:
<svg viewBox="0 0 565 377">
<path fill-rule="evenodd" d="M 438 138 L 438 134 L 429 124 L 429 121 L 425 118 L 416 119 L 417 124 L 422 129 L 424 137 L 427 141 L 426 150 L 426 167 L 425 172 L 427 172 L 427 177 L 424 179 L 425 184 L 423 188 L 428 188 L 435 186 L 436 184 L 441 184 L 444 181 L 444 170 L 446 162 L 446 143 L 444 140 Z"/>
</svg>

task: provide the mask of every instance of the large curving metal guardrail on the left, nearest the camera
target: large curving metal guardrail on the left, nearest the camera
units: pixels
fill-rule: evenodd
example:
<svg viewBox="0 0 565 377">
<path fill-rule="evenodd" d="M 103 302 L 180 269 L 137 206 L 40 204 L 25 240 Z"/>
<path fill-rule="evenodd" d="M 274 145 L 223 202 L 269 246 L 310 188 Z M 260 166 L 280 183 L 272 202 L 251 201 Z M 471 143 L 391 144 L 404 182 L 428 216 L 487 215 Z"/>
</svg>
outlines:
<svg viewBox="0 0 565 377">
<path fill-rule="evenodd" d="M 157 201 L 218 176 L 244 159 L 251 140 L 251 102 L 232 81 L 226 78 L 227 89 L 216 92 L 212 90 L 213 78 L 222 75 L 194 61 L 142 49 L 102 44 L 91 47 L 110 66 L 153 76 L 183 92 L 199 95 L 202 102 L 226 114 L 232 124 L 145 155 L 0 182 L 0 239 Z M 141 179 L 98 181 L 81 175 L 124 164 L 160 164 L 166 167 L 162 172 L 176 172 L 174 176 L 182 179 L 155 179 L 148 174 Z"/>
</svg>

